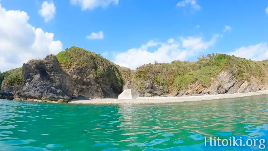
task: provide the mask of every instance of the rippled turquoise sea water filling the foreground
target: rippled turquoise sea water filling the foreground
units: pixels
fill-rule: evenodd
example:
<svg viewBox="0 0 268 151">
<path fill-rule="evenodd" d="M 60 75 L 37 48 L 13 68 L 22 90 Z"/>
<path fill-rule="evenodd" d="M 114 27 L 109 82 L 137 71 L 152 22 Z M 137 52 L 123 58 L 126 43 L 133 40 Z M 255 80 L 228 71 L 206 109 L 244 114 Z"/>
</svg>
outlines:
<svg viewBox="0 0 268 151">
<path fill-rule="evenodd" d="M 265 139 L 266 148 L 204 146 L 204 136 Z M 1 151 L 268 150 L 267 136 L 268 95 L 154 105 L 0 100 Z"/>
</svg>

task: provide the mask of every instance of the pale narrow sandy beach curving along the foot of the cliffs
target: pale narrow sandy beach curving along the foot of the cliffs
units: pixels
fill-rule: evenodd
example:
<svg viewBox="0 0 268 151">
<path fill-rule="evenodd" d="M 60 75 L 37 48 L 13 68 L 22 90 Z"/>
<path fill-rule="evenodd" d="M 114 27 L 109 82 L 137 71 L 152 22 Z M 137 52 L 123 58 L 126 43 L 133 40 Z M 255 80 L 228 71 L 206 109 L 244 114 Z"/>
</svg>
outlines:
<svg viewBox="0 0 268 151">
<path fill-rule="evenodd" d="M 240 98 L 253 95 L 265 95 L 268 90 L 235 93 L 235 94 L 218 94 L 218 95 L 203 95 L 203 96 L 184 96 L 184 97 L 138 97 L 136 99 L 91 99 L 91 100 L 71 100 L 69 103 L 74 104 L 152 104 L 152 103 L 174 103 L 185 101 L 203 101 L 203 100 L 218 100 Z"/>
</svg>

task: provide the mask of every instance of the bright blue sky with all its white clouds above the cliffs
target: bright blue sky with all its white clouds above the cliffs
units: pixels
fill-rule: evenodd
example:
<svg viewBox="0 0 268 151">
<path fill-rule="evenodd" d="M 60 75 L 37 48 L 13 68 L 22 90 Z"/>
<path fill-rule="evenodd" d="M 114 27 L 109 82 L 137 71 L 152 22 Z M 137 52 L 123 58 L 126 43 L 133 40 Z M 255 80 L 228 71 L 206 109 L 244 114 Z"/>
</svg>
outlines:
<svg viewBox="0 0 268 151">
<path fill-rule="evenodd" d="M 212 52 L 268 59 L 268 1 L 66 0 L 0 4 L 0 16 L 4 14 L 0 20 L 7 25 L 1 27 L 0 23 L 0 35 L 4 33 L 0 44 L 12 45 L 0 48 L 0 55 L 6 56 L 0 56 L 1 71 L 71 46 L 94 51 L 132 69 L 155 60 L 196 60 L 200 54 Z M 22 11 L 27 14 L 16 18 L 8 13 L 12 10 L 19 10 L 17 16 Z M 27 32 L 30 27 L 25 24 L 35 30 Z M 45 32 L 53 33 L 52 39 Z M 87 38 L 91 33 L 97 35 Z"/>
</svg>

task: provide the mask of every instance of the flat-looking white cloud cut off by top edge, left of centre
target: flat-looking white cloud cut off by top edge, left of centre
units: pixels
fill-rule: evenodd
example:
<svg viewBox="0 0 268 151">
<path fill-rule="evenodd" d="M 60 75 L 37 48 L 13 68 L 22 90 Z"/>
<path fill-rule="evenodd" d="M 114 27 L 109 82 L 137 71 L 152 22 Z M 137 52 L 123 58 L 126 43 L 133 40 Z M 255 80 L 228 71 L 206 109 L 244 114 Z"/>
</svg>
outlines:
<svg viewBox="0 0 268 151">
<path fill-rule="evenodd" d="M 118 5 L 118 0 L 71 0 L 72 5 L 79 5 L 82 10 L 93 10 L 97 7 L 106 9 L 110 4 Z"/>
</svg>

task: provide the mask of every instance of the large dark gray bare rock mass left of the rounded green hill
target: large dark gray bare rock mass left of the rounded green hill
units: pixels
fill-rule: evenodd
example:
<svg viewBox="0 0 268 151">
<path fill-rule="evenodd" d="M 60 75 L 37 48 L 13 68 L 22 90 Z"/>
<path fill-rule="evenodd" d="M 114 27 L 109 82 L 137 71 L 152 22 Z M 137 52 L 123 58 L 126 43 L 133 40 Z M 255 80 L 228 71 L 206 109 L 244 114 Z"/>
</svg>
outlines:
<svg viewBox="0 0 268 151">
<path fill-rule="evenodd" d="M 58 101 L 72 100 L 72 81 L 61 68 L 57 58 L 46 56 L 43 60 L 29 61 L 22 66 L 24 84 L 15 98 Z"/>
</svg>

